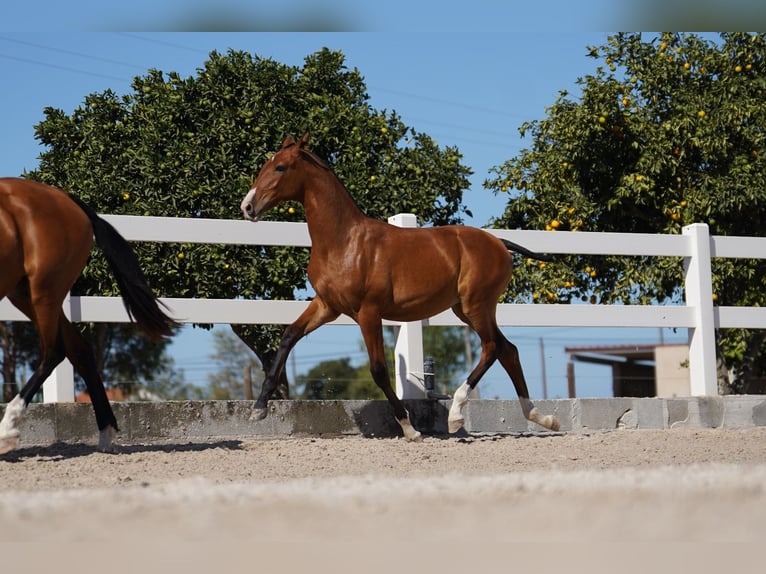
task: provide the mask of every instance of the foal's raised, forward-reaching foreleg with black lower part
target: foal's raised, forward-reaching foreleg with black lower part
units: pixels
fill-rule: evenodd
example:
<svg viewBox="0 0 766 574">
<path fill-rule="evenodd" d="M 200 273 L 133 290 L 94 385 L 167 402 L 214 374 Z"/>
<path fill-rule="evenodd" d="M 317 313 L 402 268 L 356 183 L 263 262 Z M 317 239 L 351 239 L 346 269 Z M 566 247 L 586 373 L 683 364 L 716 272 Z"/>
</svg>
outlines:
<svg viewBox="0 0 766 574">
<path fill-rule="evenodd" d="M 340 313 L 330 309 L 320 297 L 314 297 L 300 317 L 288 325 L 284 333 L 282 333 L 282 339 L 279 342 L 279 349 L 277 349 L 277 354 L 274 357 L 274 363 L 272 363 L 269 372 L 266 374 L 266 378 L 261 386 L 261 392 L 255 401 L 255 409 L 250 417 L 251 419 L 260 420 L 266 417 L 268 413 L 266 407 L 268 406 L 269 399 L 274 394 L 274 391 L 277 390 L 279 377 L 282 371 L 284 371 L 287 357 L 298 341 L 325 323 L 335 320 L 338 315 Z"/>
</svg>

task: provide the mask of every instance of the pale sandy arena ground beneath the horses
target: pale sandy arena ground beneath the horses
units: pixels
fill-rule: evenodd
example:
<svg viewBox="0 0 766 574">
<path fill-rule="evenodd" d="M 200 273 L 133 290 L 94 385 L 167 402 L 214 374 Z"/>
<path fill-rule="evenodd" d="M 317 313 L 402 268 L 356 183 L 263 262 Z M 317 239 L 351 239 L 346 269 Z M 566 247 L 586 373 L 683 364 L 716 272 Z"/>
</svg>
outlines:
<svg viewBox="0 0 766 574">
<path fill-rule="evenodd" d="M 763 427 L 57 444 L 0 476 L 17 571 L 754 571 L 766 540 Z"/>
</svg>

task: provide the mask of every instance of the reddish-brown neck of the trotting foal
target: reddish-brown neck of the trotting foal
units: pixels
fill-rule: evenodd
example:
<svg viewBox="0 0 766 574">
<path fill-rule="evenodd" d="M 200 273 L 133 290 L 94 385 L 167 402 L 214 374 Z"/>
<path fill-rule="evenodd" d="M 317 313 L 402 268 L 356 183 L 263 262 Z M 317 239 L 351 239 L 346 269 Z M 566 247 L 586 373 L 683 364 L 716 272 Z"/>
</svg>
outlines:
<svg viewBox="0 0 766 574">
<path fill-rule="evenodd" d="M 328 248 L 346 246 L 354 228 L 367 220 L 334 176 L 327 185 L 306 190 L 303 206 L 313 245 L 322 244 Z"/>
</svg>

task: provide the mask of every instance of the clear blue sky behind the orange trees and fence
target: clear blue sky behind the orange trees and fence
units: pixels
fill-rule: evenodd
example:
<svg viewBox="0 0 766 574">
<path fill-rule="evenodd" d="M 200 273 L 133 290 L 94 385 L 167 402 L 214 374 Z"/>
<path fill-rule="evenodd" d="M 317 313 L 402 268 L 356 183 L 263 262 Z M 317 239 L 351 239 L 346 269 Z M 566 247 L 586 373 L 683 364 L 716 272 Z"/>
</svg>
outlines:
<svg viewBox="0 0 766 574">
<path fill-rule="evenodd" d="M 112 13 L 110 18 L 114 16 Z M 524 121 L 544 117 L 546 107 L 554 103 L 560 90 L 577 92 L 577 78 L 592 72 L 596 65 L 585 56 L 586 46 L 602 44 L 606 37 L 602 32 L 513 29 L 217 34 L 0 32 L 0 72 L 6 78 L 0 89 L 0 175 L 15 176 L 36 166 L 41 148 L 34 139 L 34 125 L 43 118 L 46 106 L 71 113 L 92 92 L 112 89 L 118 94 L 127 93 L 132 78 L 149 68 L 194 74 L 212 50 L 247 50 L 300 65 L 306 55 L 326 46 L 341 50 L 347 65 L 360 70 L 374 108 L 396 110 L 407 125 L 428 133 L 440 145 L 459 148 L 464 164 L 475 172 L 471 189 L 464 195 L 464 203 L 474 213 L 467 223 L 483 226 L 502 211 L 505 203 L 505 197 L 496 197 L 482 187 L 489 169 L 530 145 L 520 139 L 517 131 Z M 236 217 L 239 207 L 232 206 L 232 218 Z M 549 396 L 565 396 L 566 345 L 647 343 L 659 338 L 658 330 L 506 332 L 520 348 L 530 391 L 537 397 L 542 393 L 543 357 Z M 329 358 L 352 356 L 361 362 L 357 328 L 324 327 L 318 333 L 296 349 L 299 374 Z M 666 340 L 685 339 L 685 333 L 664 336 Z M 545 341 L 542 355 L 541 338 Z M 207 333 L 187 329 L 172 346 L 177 366 L 185 369 L 187 380 L 206 382 L 208 361 L 204 357 L 209 345 Z M 288 369 L 290 366 L 288 363 Z M 604 368 L 587 370 L 578 366 L 577 376 L 591 381 L 578 385 L 583 394 L 609 394 L 609 372 Z M 487 374 L 481 388 L 483 396 L 515 397 L 510 381 L 498 368 Z"/>
</svg>

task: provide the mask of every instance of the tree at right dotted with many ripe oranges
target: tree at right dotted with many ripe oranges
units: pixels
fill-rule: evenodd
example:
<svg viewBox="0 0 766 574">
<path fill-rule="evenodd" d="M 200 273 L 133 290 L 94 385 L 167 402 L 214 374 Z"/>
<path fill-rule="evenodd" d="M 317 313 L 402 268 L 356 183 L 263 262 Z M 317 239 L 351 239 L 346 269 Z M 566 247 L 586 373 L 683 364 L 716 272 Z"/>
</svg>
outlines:
<svg viewBox="0 0 766 574">
<path fill-rule="evenodd" d="M 507 193 L 496 227 L 763 235 L 766 219 L 766 37 L 625 33 L 588 48 L 600 65 L 562 92 L 532 144 L 493 169 Z M 766 304 L 763 261 L 716 260 L 721 305 Z M 520 266 L 514 292 L 541 302 L 672 303 L 682 266 L 664 258 L 569 257 Z M 517 297 L 518 298 L 518 297 Z M 722 392 L 763 392 L 766 331 L 718 334 Z M 724 376 L 733 374 L 732 377 Z"/>
</svg>

